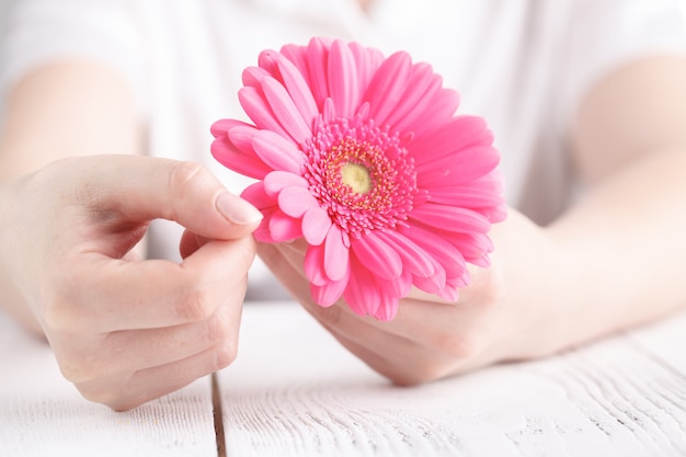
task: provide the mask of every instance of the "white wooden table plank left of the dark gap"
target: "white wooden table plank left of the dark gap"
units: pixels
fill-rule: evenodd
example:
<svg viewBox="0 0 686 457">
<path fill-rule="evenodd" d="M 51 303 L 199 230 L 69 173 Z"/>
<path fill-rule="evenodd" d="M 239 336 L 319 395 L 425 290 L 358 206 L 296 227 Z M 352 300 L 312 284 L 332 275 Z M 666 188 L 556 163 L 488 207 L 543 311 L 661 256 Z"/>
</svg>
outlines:
<svg viewBox="0 0 686 457">
<path fill-rule="evenodd" d="M 84 400 L 53 354 L 0 315 L 0 456 L 216 456 L 209 377 L 117 413 Z"/>
</svg>

